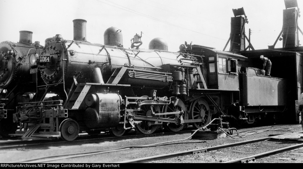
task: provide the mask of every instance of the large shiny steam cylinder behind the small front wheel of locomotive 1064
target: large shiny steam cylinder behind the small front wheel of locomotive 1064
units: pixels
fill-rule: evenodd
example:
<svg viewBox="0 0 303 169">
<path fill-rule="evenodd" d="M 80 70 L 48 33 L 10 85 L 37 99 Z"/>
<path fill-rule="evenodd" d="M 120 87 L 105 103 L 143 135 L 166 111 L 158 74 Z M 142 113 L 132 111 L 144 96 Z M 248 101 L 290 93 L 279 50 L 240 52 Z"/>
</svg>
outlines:
<svg viewBox="0 0 303 169">
<path fill-rule="evenodd" d="M 90 129 L 111 128 L 120 121 L 120 105 L 122 97 L 119 94 L 93 93 L 85 97 L 88 108 L 84 113 L 84 123 Z"/>
</svg>

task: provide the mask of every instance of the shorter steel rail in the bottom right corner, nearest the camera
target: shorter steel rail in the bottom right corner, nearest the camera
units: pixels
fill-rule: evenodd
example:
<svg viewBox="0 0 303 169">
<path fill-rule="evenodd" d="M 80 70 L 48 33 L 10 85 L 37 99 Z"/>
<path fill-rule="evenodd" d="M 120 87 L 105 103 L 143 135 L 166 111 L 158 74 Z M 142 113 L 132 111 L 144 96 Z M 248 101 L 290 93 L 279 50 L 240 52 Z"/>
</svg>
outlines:
<svg viewBox="0 0 303 169">
<path fill-rule="evenodd" d="M 249 157 L 244 157 L 244 158 L 239 158 L 239 159 L 236 159 L 236 160 L 226 161 L 226 162 L 223 162 L 223 163 L 248 163 L 250 161 L 255 161 L 256 159 L 268 157 L 268 156 L 271 156 L 271 155 L 279 154 L 279 153 L 282 153 L 282 152 L 285 152 L 285 151 L 290 151 L 290 150 L 294 150 L 294 149 L 301 148 L 301 147 L 303 147 L 303 143 L 298 144 L 298 145 L 291 145 L 291 146 L 288 146 L 288 147 L 285 147 L 285 148 L 280 148 L 280 149 L 276 149 L 276 150 L 272 150 L 272 151 L 267 151 L 267 152 L 260 153 L 260 154 L 257 154 L 257 155 L 252 155 L 252 156 L 249 156 Z"/>
</svg>

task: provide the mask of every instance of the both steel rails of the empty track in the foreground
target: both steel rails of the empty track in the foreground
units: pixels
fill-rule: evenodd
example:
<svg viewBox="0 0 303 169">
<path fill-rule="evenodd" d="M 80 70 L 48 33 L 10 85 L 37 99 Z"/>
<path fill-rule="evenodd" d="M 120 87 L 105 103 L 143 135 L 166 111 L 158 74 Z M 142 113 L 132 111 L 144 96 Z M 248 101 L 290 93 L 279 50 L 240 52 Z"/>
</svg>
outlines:
<svg viewBox="0 0 303 169">
<path fill-rule="evenodd" d="M 295 133 L 303 133 L 303 132 L 295 132 Z M 289 134 L 293 134 L 293 133 L 289 133 Z M 283 134 L 283 135 L 289 135 L 289 134 Z M 271 138 L 272 137 L 265 137 L 265 138 L 253 139 L 253 140 L 248 140 L 248 141 L 235 142 L 235 143 L 231 143 L 231 144 L 217 145 L 217 146 L 212 146 L 212 147 L 207 147 L 207 148 L 194 149 L 194 150 L 188 150 L 188 151 L 182 151 L 182 152 L 176 152 L 176 153 L 170 153 L 170 154 L 163 154 L 163 155 L 156 155 L 156 156 L 151 156 L 151 157 L 121 161 L 118 163 L 146 163 L 146 162 L 151 162 L 151 161 L 165 160 L 165 159 L 174 158 L 174 157 L 178 157 L 178 156 L 192 155 L 192 154 L 203 153 L 203 152 L 208 152 L 208 151 L 215 151 L 215 150 L 228 148 L 228 147 L 235 147 L 235 146 L 246 145 L 246 144 L 251 144 L 251 143 L 255 143 L 255 142 L 262 142 L 262 141 L 265 141 L 265 140 L 268 140 Z M 264 157 L 267 157 L 270 155 L 278 154 L 278 153 L 285 152 L 285 151 L 290 151 L 290 150 L 301 148 L 301 147 L 303 147 L 303 143 L 298 144 L 298 145 L 288 146 L 285 148 L 280 148 L 277 150 L 264 152 L 264 153 L 257 154 L 257 155 L 248 156 L 245 158 L 239 158 L 236 160 L 227 161 L 226 163 L 244 163 L 244 162 L 255 161 L 256 159 L 259 159 L 259 158 L 264 158 Z"/>
</svg>

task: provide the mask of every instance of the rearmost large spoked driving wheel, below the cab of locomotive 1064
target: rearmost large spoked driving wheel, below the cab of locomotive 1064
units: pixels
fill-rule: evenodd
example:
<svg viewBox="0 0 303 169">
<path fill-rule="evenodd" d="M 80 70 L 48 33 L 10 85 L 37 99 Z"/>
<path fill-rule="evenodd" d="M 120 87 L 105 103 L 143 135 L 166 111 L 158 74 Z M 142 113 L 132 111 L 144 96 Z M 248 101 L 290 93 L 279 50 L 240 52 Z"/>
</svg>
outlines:
<svg viewBox="0 0 303 169">
<path fill-rule="evenodd" d="M 202 120 L 201 122 L 192 123 L 192 126 L 196 129 L 206 126 L 211 120 L 209 105 L 204 99 L 195 100 L 191 104 L 190 113 L 191 113 L 191 119 Z"/>
</svg>

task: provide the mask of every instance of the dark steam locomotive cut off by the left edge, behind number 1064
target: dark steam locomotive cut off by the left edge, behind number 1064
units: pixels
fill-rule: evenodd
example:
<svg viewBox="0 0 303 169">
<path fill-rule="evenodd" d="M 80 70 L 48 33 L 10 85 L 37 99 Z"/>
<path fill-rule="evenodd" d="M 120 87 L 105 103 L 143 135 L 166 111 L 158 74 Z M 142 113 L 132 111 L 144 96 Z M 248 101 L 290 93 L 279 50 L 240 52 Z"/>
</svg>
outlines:
<svg viewBox="0 0 303 169">
<path fill-rule="evenodd" d="M 0 43 L 0 135 L 15 132 L 12 114 L 20 102 L 31 101 L 36 87 L 30 74 L 29 57 L 39 55 L 43 46 L 32 43 L 31 31 L 20 31 L 18 43 Z"/>
</svg>

